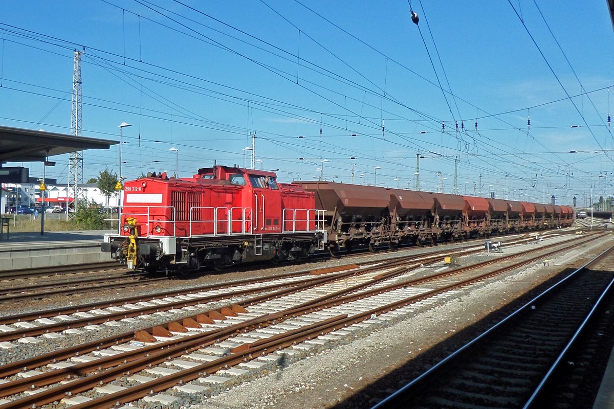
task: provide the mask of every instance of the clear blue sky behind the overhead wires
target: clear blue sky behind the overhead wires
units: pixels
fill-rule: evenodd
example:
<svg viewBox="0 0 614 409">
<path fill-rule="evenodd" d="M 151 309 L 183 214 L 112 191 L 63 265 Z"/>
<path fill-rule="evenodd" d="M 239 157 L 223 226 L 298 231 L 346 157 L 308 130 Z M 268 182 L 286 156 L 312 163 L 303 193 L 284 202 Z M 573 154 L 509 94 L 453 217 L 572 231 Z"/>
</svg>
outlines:
<svg viewBox="0 0 614 409">
<path fill-rule="evenodd" d="M 452 193 L 456 162 L 462 194 L 474 183 L 478 194 L 554 194 L 558 204 L 583 204 L 591 186 L 614 194 L 606 1 L 66 0 L 2 9 L 0 123 L 70 133 L 73 52 L 85 48 L 82 134 L 118 140 L 119 124 L 130 123 L 128 178 L 173 172 L 171 147 L 180 176 L 214 161 L 249 166 L 243 148 L 255 132 L 257 167 L 279 169 L 284 182 L 322 174 L 351 183 L 353 166 L 356 183 L 415 188 L 420 150 L 423 190 L 441 183 Z M 68 155 L 53 160 L 48 177 L 65 182 Z M 85 152 L 86 179 L 105 167 L 117 172 L 117 147 Z"/>
</svg>

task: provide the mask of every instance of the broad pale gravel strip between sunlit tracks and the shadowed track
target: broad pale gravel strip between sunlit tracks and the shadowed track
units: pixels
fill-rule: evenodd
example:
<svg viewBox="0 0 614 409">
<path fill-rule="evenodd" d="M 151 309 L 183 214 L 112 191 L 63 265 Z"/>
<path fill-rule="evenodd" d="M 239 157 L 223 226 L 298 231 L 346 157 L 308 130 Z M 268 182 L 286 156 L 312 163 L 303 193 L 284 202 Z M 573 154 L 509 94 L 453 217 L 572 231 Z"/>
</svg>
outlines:
<svg viewBox="0 0 614 409">
<path fill-rule="evenodd" d="M 460 338 L 488 328 L 480 320 L 492 312 L 503 315 L 503 311 L 497 311 L 511 310 L 514 300 L 535 286 L 565 268 L 580 266 L 599 254 L 604 245 L 612 245 L 612 237 L 604 241 L 607 243 L 573 248 L 553 258 L 549 267 L 534 266 L 503 280 L 489 280 L 480 289 L 464 292 L 457 299 L 416 313 L 351 345 L 278 367 L 267 377 L 231 388 L 194 409 L 370 408 L 376 403 L 373 388 L 389 388 L 390 392 L 399 388 L 437 359 L 456 350 L 462 343 Z M 580 256 L 582 262 L 573 261 L 581 252 L 585 253 Z M 431 351 L 432 348 L 437 351 Z M 370 386 L 393 371 L 393 380 Z"/>
</svg>

